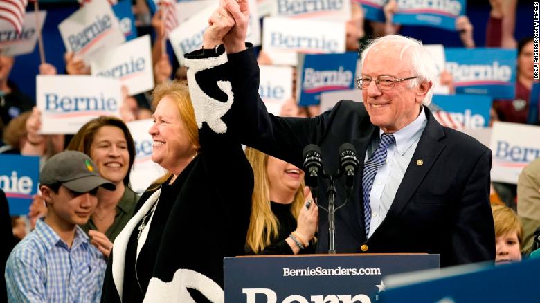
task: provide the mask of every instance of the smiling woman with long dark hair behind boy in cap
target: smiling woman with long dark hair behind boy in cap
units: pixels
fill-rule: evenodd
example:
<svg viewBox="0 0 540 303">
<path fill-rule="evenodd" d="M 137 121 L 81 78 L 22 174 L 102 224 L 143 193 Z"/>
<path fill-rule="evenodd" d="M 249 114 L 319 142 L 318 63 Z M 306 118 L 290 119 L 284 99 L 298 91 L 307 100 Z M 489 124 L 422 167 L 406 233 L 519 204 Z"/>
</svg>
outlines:
<svg viewBox="0 0 540 303">
<path fill-rule="evenodd" d="M 98 190 L 98 205 L 88 223 L 81 226 L 91 243 L 109 257 L 112 242 L 131 219 L 138 196 L 129 188 L 129 172 L 135 160 L 135 144 L 125 123 L 115 117 L 90 120 L 73 136 L 67 149 L 90 156 L 100 175 L 116 190 Z"/>
</svg>

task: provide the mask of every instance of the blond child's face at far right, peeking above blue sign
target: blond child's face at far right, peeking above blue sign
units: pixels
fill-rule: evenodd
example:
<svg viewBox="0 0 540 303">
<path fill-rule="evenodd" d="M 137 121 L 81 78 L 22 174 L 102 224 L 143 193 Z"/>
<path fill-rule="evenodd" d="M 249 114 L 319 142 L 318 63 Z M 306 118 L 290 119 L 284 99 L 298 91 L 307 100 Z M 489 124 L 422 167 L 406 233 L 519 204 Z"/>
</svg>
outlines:
<svg viewBox="0 0 540 303">
<path fill-rule="evenodd" d="M 514 210 L 492 205 L 495 223 L 495 264 L 521 261 L 523 227 Z"/>
</svg>

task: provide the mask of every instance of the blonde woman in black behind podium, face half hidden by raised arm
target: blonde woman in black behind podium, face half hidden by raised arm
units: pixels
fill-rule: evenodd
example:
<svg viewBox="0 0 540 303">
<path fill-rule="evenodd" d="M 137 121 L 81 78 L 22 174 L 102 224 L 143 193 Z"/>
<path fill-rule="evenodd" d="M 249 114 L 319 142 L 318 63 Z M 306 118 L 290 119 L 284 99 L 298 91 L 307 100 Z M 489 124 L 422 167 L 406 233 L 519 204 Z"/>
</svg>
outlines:
<svg viewBox="0 0 540 303">
<path fill-rule="evenodd" d="M 318 208 L 305 199 L 304 172 L 251 147 L 246 157 L 255 176 L 246 253 L 313 253 Z"/>
</svg>

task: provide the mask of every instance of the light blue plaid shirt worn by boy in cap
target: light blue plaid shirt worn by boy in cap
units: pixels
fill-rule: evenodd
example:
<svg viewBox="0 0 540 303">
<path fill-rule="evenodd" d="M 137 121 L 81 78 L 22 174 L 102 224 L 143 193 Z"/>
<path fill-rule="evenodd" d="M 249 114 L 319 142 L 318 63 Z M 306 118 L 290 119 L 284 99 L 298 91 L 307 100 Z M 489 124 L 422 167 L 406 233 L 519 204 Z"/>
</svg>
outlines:
<svg viewBox="0 0 540 303">
<path fill-rule="evenodd" d="M 6 263 L 8 302 L 99 302 L 106 266 L 80 227 L 70 249 L 37 220 Z"/>
</svg>

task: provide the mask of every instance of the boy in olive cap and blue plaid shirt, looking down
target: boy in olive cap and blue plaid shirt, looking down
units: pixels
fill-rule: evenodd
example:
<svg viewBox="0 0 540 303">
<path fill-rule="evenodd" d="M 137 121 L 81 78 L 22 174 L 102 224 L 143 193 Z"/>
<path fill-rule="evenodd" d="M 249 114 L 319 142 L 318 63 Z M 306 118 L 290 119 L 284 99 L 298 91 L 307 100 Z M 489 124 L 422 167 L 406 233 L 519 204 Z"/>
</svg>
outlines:
<svg viewBox="0 0 540 303">
<path fill-rule="evenodd" d="M 86 154 L 50 158 L 39 176 L 47 214 L 6 264 L 8 302 L 99 302 L 106 261 L 78 227 L 96 208 L 98 187 L 114 190 Z"/>
</svg>

